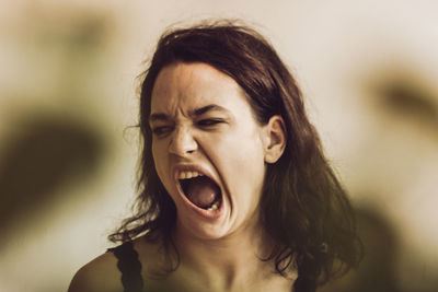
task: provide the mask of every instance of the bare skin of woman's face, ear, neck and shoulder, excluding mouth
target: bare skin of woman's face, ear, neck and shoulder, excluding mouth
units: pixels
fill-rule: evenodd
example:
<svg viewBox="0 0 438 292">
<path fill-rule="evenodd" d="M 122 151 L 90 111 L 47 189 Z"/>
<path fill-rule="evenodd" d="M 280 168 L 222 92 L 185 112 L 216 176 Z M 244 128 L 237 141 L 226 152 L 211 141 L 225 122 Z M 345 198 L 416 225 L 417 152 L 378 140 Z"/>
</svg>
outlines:
<svg viewBox="0 0 438 292">
<path fill-rule="evenodd" d="M 177 210 L 172 236 L 181 261 L 175 271 L 157 277 L 169 258 L 160 242 L 137 240 L 147 288 L 291 291 L 295 271 L 285 278 L 275 273 L 272 261 L 260 260 L 272 243 L 260 227 L 258 202 L 266 164 L 275 163 L 285 149 L 281 117 L 260 125 L 233 79 L 205 63 L 180 62 L 163 68 L 157 78 L 150 127 L 155 168 Z M 220 212 L 203 215 L 187 203 L 175 180 L 181 165 L 200 167 L 214 178 L 222 195 Z M 84 279 L 97 281 L 97 272 L 116 275 L 115 266 L 114 256 L 104 254 L 77 273 L 69 292 L 94 291 L 92 287 L 103 291 L 99 283 L 84 287 Z M 115 278 L 112 285 L 120 287 Z"/>
</svg>

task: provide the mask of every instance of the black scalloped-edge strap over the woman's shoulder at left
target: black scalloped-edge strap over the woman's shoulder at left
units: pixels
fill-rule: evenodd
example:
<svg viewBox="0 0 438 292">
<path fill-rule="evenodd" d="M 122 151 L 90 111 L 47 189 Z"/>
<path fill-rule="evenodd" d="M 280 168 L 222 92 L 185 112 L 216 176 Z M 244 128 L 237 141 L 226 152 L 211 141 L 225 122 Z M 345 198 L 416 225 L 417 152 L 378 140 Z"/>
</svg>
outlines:
<svg viewBox="0 0 438 292">
<path fill-rule="evenodd" d="M 141 292 L 143 279 L 141 278 L 141 262 L 131 242 L 126 242 L 117 247 L 108 248 L 117 258 L 117 268 L 122 272 L 124 292 Z"/>
</svg>

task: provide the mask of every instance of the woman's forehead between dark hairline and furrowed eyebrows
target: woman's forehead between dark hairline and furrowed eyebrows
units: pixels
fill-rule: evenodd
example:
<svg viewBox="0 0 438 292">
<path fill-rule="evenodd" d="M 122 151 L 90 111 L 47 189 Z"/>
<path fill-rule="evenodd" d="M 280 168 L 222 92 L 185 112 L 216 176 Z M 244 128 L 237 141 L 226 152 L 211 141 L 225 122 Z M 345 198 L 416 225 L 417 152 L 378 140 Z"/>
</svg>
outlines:
<svg viewBox="0 0 438 292">
<path fill-rule="evenodd" d="M 178 62 L 160 71 L 152 90 L 151 113 L 176 115 L 209 104 L 231 112 L 251 110 L 241 86 L 209 65 Z"/>
</svg>

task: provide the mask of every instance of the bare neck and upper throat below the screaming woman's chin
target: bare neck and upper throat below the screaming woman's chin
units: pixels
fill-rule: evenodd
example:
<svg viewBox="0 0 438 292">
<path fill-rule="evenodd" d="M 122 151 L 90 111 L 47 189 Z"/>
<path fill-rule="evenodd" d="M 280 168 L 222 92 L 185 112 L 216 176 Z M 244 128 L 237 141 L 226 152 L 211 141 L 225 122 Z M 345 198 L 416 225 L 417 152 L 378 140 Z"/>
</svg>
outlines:
<svg viewBox="0 0 438 292">
<path fill-rule="evenodd" d="M 260 279 L 283 280 L 275 273 L 272 261 L 262 260 L 269 255 L 272 247 L 269 237 L 262 230 L 260 224 L 253 224 L 226 237 L 203 240 L 176 226 L 173 236 L 180 254 L 180 268 L 205 279 L 210 291 L 243 291 L 239 288 Z"/>
</svg>

